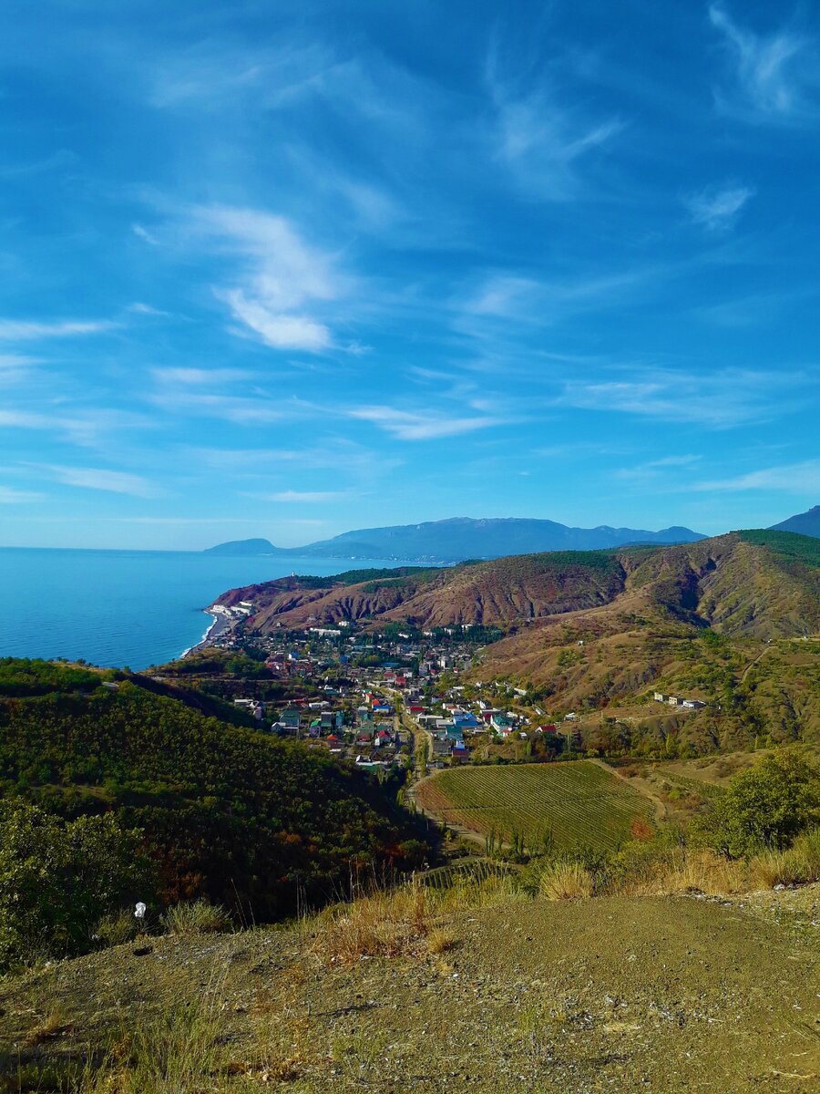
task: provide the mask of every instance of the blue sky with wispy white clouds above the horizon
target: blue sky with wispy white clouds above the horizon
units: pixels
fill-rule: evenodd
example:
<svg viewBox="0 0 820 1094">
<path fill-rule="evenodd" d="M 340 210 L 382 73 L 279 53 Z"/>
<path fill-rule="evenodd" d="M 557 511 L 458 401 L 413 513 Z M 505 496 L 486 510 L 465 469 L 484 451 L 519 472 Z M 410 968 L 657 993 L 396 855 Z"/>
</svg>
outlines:
<svg viewBox="0 0 820 1094">
<path fill-rule="evenodd" d="M 0 544 L 820 501 L 817 9 L 4 0 Z"/>
</svg>

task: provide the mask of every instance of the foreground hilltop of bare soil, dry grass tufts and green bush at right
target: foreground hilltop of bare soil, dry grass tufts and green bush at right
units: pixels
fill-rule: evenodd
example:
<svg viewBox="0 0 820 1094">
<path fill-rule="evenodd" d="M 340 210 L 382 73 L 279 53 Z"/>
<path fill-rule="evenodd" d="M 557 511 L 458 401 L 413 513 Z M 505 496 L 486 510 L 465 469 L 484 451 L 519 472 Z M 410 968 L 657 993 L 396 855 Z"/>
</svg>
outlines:
<svg viewBox="0 0 820 1094">
<path fill-rule="evenodd" d="M 784 1054 L 809 1074 L 816 905 L 769 913 L 748 894 L 820 878 L 819 782 L 803 754 L 763 757 L 702 831 L 543 848 L 524 868 L 468 859 L 389 887 L 371 872 L 352 900 L 272 933 L 204 939 L 223 912 L 183 904 L 109 958 L 7 980 L 0 1029 L 16 1048 L 0 1064 L 12 1089 L 78 1094 L 399 1090 L 415 1074 L 431 1090 L 535 1092 L 544 1075 L 630 1090 L 652 1074 L 739 1094 Z M 787 827 L 761 831 L 754 800 Z M 741 856 L 712 846 L 726 833 Z"/>
</svg>

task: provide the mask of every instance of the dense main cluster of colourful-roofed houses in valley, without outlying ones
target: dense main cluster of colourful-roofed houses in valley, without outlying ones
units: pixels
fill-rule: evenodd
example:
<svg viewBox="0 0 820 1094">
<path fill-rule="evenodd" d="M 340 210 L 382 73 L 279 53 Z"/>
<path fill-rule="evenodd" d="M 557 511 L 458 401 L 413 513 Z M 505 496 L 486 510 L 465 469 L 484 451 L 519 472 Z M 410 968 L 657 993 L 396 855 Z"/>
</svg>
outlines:
<svg viewBox="0 0 820 1094">
<path fill-rule="evenodd" d="M 231 610 L 248 606 L 253 609 L 242 604 Z M 569 736 L 566 726 L 538 724 L 538 717 L 543 718 L 539 708 L 531 719 L 508 709 L 511 701 L 515 705 L 526 695 L 520 688 L 477 683 L 467 689 L 457 684 L 477 650 L 461 627 L 402 633 L 394 626 L 379 636 L 358 631 L 347 620 L 325 626 L 316 621 L 301 631 L 257 635 L 253 641 L 266 655 L 267 678 L 295 684 L 291 690 L 303 689 L 308 697 L 293 698 L 277 711 L 258 699 L 235 703 L 245 707 L 260 729 L 326 747 L 360 766 L 405 763 L 410 722 L 425 734 L 429 761 L 436 767 L 468 763 L 479 735 L 482 745 Z M 216 644 L 241 649 L 243 642 L 237 626 L 223 632 Z M 403 714 L 403 734 L 396 729 L 394 707 Z"/>
</svg>

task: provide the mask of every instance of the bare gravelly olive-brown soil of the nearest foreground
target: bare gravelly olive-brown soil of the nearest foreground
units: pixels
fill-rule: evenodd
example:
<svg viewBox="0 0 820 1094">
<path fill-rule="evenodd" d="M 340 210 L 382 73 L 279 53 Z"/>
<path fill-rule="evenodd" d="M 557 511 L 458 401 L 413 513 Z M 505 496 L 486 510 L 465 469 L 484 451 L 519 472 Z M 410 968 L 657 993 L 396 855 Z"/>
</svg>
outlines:
<svg viewBox="0 0 820 1094">
<path fill-rule="evenodd" d="M 121 1044 L 202 1001 L 223 1070 L 191 1091 L 808 1094 L 819 928 L 815 885 L 508 901 L 453 918 L 445 953 L 352 963 L 316 924 L 151 939 L 3 982 L 4 1064 Z"/>
</svg>

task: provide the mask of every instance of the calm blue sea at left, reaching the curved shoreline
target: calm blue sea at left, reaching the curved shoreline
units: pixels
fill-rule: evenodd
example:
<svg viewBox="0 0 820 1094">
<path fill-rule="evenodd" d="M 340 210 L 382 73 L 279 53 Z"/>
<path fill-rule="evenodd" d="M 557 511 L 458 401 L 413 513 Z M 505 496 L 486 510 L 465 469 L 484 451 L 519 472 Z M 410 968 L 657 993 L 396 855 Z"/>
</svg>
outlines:
<svg viewBox="0 0 820 1094">
<path fill-rule="evenodd" d="M 181 656 L 229 589 L 328 577 L 396 559 L 227 558 L 201 551 L 0 547 L 0 656 L 80 657 L 140 670 Z"/>
</svg>

